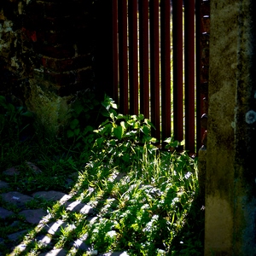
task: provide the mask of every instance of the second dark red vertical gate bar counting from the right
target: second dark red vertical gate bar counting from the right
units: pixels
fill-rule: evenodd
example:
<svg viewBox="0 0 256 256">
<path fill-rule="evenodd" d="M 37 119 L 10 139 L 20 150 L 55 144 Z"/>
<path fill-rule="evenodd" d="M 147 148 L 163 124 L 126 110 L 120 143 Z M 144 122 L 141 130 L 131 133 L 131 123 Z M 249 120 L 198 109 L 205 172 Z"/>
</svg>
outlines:
<svg viewBox="0 0 256 256">
<path fill-rule="evenodd" d="M 172 1 L 173 132 L 183 141 L 183 0 Z"/>
</svg>

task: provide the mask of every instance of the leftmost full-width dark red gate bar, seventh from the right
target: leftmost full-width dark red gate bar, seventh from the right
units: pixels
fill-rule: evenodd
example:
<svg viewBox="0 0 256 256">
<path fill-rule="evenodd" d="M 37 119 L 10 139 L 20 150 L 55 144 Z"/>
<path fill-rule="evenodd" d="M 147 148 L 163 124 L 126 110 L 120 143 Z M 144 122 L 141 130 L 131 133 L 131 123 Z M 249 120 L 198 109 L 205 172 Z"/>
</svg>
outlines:
<svg viewBox="0 0 256 256">
<path fill-rule="evenodd" d="M 119 1 L 119 106 L 121 113 L 129 113 L 128 56 L 127 56 L 127 3 Z"/>
</svg>

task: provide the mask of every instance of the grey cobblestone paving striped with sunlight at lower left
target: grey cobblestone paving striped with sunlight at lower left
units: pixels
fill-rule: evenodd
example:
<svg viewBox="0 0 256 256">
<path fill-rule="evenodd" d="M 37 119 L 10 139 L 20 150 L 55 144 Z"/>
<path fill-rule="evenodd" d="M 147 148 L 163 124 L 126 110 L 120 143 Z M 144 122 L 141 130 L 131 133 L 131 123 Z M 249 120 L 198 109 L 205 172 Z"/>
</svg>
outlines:
<svg viewBox="0 0 256 256">
<path fill-rule="evenodd" d="M 65 248 L 55 248 L 56 237 L 60 236 L 61 229 L 67 227 L 67 223 L 62 219 L 53 219 L 49 212 L 42 208 L 26 208 L 27 203 L 37 202 L 40 199 L 45 201 L 59 201 L 61 205 L 66 207 L 67 211 L 80 212 L 84 214 L 84 219 L 95 221 L 96 211 L 94 208 L 80 202 L 74 201 L 71 195 L 67 195 L 60 191 L 38 191 L 32 195 L 23 195 L 18 191 L 9 191 L 9 184 L 0 181 L 0 224 L 1 226 L 9 226 L 15 230 L 7 236 L 0 233 L 0 256 L 6 255 L 1 252 L 1 248 L 8 250 L 9 255 L 20 255 L 15 252 L 26 252 L 29 243 L 37 241 L 42 247 L 40 254 L 26 254 L 39 256 L 62 256 L 69 255 L 104 255 L 104 256 L 127 256 L 125 252 L 103 253 L 98 254 L 96 250 L 92 250 L 84 241 L 86 237 L 80 237 L 76 241 L 72 241 Z M 10 207 L 11 206 L 11 207 Z M 35 206 L 37 204 L 35 203 Z M 36 230 L 36 235 L 32 239 L 25 239 L 30 227 Z M 69 224 L 69 228 L 75 229 L 75 225 Z M 2 236 L 2 237 L 1 237 Z M 7 248 L 7 249 L 6 249 Z M 76 252 L 76 253 L 75 253 Z"/>
</svg>

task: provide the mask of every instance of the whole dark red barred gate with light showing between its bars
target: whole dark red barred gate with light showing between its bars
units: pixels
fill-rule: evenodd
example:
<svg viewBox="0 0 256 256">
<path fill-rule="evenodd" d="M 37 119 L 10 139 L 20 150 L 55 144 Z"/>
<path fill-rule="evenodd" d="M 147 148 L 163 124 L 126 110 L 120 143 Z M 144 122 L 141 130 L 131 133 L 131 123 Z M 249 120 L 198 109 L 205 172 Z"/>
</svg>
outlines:
<svg viewBox="0 0 256 256">
<path fill-rule="evenodd" d="M 207 113 L 208 0 L 98 0 L 97 84 L 124 114 L 143 113 L 152 136 L 201 147 Z M 205 8 L 207 5 L 207 9 Z M 207 39 L 208 40 L 208 39 Z M 207 41 L 208 44 L 208 41 Z M 202 69 L 206 75 L 202 75 Z"/>
</svg>

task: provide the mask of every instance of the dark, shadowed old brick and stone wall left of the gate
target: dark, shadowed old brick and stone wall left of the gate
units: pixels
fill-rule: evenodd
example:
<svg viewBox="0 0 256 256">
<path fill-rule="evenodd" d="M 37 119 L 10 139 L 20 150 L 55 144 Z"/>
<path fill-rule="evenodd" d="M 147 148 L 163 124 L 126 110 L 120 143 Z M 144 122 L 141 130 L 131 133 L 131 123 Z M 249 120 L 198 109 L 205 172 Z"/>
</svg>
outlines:
<svg viewBox="0 0 256 256">
<path fill-rule="evenodd" d="M 95 86 L 94 8 L 84 0 L 0 2 L 0 94 L 18 97 L 54 133 L 76 93 Z"/>
</svg>

